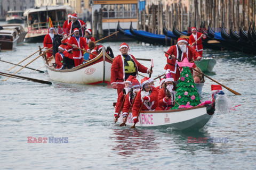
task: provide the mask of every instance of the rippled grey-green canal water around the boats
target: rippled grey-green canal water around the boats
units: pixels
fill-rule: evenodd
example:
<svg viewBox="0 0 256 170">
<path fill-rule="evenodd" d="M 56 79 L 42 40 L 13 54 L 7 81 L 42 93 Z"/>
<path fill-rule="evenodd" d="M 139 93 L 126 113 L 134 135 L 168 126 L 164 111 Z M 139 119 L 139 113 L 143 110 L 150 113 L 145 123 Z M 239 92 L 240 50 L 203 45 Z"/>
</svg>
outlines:
<svg viewBox="0 0 256 170">
<path fill-rule="evenodd" d="M 115 55 L 120 44 L 102 43 L 110 45 Z M 43 46 L 25 44 L 14 52 L 0 52 L 0 57 L 18 63 L 38 45 Z M 153 77 L 163 73 L 163 52 L 168 47 L 135 42 L 129 46 L 135 57 L 154 59 Z M 1 169 L 255 169 L 256 57 L 214 50 L 204 54 L 217 57 L 210 77 L 242 96 L 224 89 L 233 106 L 241 106 L 227 114 L 216 112 L 201 131 L 121 128 L 113 122 L 116 90 L 107 86 L 56 82 L 47 73 L 27 69 L 18 75 L 53 84 L 0 81 Z M 7 72 L 13 65 L 1 62 L 0 66 L 1 72 Z M 38 69 L 43 62 L 40 58 L 29 66 Z M 10 73 L 17 70 L 18 66 Z M 215 83 L 206 78 L 203 100 L 210 98 L 211 84 Z M 68 143 L 28 143 L 27 137 L 68 137 Z M 228 138 L 228 142 L 188 143 L 188 137 Z"/>
</svg>

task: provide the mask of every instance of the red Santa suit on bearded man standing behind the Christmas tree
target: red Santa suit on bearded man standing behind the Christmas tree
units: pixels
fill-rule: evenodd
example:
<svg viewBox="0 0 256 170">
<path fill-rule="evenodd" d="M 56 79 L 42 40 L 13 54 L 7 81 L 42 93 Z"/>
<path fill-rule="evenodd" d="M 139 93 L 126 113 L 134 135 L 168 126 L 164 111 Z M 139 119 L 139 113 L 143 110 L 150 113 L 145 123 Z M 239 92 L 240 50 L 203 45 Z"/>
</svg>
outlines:
<svg viewBox="0 0 256 170">
<path fill-rule="evenodd" d="M 180 39 L 180 38 L 179 38 Z M 179 43 L 178 39 L 178 43 Z M 174 55 L 176 58 L 179 58 L 179 49 L 178 49 L 178 43 L 177 45 L 171 46 L 169 50 L 167 51 L 168 54 Z M 167 64 L 164 67 L 164 70 L 170 70 L 172 77 L 174 78 L 174 81 L 177 81 L 180 78 L 181 69 L 178 64 L 177 60 L 171 58 L 169 55 L 165 54 L 167 57 Z M 187 50 L 185 53 L 181 53 L 181 61 L 184 60 L 184 58 L 187 58 L 188 61 L 196 60 L 197 57 L 201 57 L 198 52 L 190 46 L 187 46 Z M 193 67 L 195 68 L 196 65 L 194 64 Z"/>
</svg>

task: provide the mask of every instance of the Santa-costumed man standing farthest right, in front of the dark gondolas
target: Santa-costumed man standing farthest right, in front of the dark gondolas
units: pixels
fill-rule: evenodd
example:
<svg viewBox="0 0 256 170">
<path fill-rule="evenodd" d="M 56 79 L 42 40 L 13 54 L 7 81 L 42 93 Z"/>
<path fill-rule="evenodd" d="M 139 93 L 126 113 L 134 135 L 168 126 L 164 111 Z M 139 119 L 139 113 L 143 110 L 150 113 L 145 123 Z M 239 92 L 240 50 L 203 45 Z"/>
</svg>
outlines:
<svg viewBox="0 0 256 170">
<path fill-rule="evenodd" d="M 192 31 L 192 34 L 189 36 L 189 45 L 191 47 L 193 47 L 199 53 L 199 55 L 202 57 L 202 55 L 203 55 L 202 39 L 205 39 L 206 36 L 201 32 L 197 32 L 195 27 L 193 27 L 191 31 Z M 199 40 L 196 42 L 197 39 L 199 39 Z"/>
</svg>

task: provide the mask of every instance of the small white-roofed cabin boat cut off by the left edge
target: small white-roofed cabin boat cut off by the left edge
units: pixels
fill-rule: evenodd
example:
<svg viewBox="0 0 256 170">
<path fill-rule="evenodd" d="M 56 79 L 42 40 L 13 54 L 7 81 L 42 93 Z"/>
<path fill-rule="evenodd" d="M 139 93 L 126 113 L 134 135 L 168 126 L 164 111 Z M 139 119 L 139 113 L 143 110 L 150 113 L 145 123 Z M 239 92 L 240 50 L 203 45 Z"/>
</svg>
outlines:
<svg viewBox="0 0 256 170">
<path fill-rule="evenodd" d="M 0 47 L 1 50 L 13 50 L 17 46 L 19 39 L 18 32 L 15 29 L 12 30 L 0 30 Z"/>
</svg>

